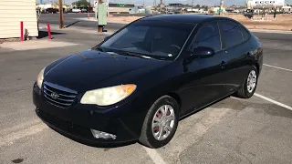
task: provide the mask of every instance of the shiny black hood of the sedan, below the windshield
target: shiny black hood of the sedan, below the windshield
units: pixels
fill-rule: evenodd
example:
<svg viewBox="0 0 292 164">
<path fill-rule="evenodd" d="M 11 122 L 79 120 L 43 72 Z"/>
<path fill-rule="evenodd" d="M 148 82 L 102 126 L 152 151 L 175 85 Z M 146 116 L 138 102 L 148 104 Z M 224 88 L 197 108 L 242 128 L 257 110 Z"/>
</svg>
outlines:
<svg viewBox="0 0 292 164">
<path fill-rule="evenodd" d="M 44 81 L 83 92 L 99 88 L 101 81 L 109 81 L 110 78 L 118 76 L 132 79 L 129 74 L 127 76 L 127 73 L 141 69 L 152 69 L 167 63 L 169 62 L 86 50 L 58 59 L 50 64 L 45 70 Z"/>
</svg>

